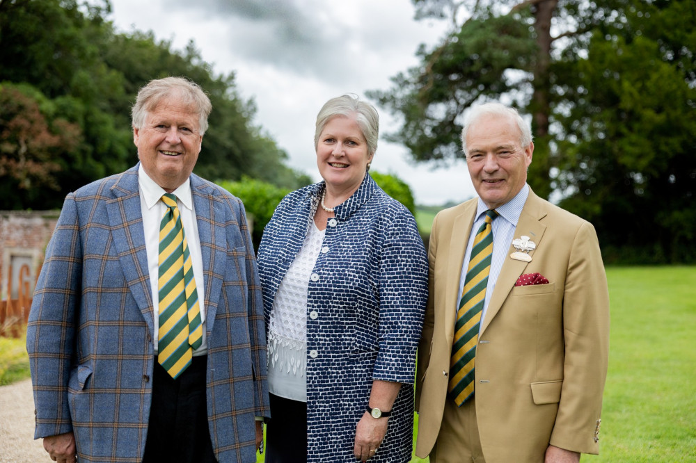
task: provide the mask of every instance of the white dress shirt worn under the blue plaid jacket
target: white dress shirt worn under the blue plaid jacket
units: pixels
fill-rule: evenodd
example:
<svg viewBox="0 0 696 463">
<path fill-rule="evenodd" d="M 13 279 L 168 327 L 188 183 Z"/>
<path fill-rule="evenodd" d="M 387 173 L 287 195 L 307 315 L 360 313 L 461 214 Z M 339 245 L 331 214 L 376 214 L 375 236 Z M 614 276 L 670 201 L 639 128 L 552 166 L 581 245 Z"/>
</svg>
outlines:
<svg viewBox="0 0 696 463">
<path fill-rule="evenodd" d="M 148 251 L 152 306 L 155 311 L 155 333 L 152 343 L 155 345 L 155 355 L 157 355 L 159 342 L 159 288 L 157 287 L 157 281 L 159 280 L 159 225 L 167 209 L 167 206 L 161 201 L 161 197 L 166 191 L 145 173 L 142 164 L 138 169 L 138 185 L 140 190 L 140 207 L 143 214 L 143 229 L 145 231 L 145 249 Z M 207 343 L 205 340 L 205 303 L 203 301 L 205 295 L 205 289 L 203 288 L 203 259 L 200 255 L 196 211 L 193 209 L 193 198 L 191 197 L 191 181 L 184 181 L 172 193 L 177 197 L 176 204 L 184 227 L 184 236 L 186 236 L 189 245 L 193 279 L 196 281 L 196 291 L 198 292 L 200 321 L 203 326 L 203 342 L 198 349 L 193 351 L 193 356 L 196 357 L 207 353 Z"/>
</svg>

